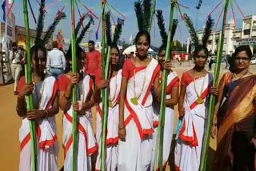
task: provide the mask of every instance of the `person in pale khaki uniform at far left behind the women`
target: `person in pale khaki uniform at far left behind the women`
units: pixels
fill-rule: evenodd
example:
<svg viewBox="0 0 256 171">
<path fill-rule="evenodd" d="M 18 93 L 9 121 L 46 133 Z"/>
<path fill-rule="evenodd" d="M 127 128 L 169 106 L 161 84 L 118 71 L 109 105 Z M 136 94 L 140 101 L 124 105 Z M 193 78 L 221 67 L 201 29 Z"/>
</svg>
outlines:
<svg viewBox="0 0 256 171">
<path fill-rule="evenodd" d="M 17 95 L 17 85 L 20 74 L 22 73 L 21 61 L 23 58 L 22 50 L 18 50 L 17 42 L 13 42 L 9 53 L 11 75 L 14 78 L 14 94 Z"/>
</svg>

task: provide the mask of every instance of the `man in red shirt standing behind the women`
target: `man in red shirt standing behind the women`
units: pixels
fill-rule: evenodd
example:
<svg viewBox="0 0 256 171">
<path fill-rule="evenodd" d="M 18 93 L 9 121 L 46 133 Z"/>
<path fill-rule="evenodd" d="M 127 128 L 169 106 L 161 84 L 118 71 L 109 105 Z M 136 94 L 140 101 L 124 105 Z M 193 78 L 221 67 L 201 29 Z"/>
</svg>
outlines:
<svg viewBox="0 0 256 171">
<path fill-rule="evenodd" d="M 88 42 L 89 52 L 86 53 L 85 59 L 85 73 L 95 79 L 96 70 L 102 68 L 102 54 L 95 50 L 94 41 Z"/>
</svg>

